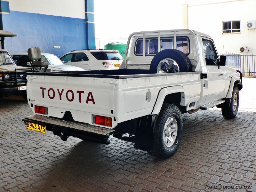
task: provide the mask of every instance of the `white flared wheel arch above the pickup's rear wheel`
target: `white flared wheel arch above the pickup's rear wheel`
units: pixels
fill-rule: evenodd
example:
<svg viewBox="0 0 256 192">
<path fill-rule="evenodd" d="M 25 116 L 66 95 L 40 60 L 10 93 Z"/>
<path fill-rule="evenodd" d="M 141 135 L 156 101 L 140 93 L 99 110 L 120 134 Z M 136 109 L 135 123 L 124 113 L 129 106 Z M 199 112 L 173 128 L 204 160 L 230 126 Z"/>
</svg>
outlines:
<svg viewBox="0 0 256 192">
<path fill-rule="evenodd" d="M 159 114 L 164 103 L 179 103 L 186 106 L 186 92 L 182 86 L 170 86 L 162 88 L 157 95 L 152 115 Z"/>
</svg>

